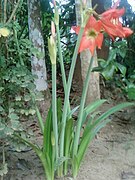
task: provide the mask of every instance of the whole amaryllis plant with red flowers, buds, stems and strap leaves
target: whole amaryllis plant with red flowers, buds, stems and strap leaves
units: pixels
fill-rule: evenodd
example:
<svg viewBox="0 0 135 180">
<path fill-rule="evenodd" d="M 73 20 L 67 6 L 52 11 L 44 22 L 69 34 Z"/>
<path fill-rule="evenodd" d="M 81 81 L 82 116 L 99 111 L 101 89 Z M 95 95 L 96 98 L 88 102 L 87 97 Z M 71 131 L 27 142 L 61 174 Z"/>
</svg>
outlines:
<svg viewBox="0 0 135 180">
<path fill-rule="evenodd" d="M 131 29 L 122 26 L 119 18 L 124 14 L 125 9 L 117 9 L 117 5 L 118 2 L 106 12 L 97 14 L 95 9 L 87 8 L 86 1 L 82 1 L 81 24 L 80 26 L 72 27 L 72 30 L 78 35 L 78 38 L 68 79 L 66 79 L 60 43 L 59 13 L 56 2 L 54 1 L 54 18 L 51 24 L 51 36 L 48 39 L 48 49 L 52 63 L 52 104 L 45 123 L 36 107 L 41 132 L 43 134 L 43 144 L 39 147 L 16 135 L 26 144 L 30 145 L 37 153 L 43 164 L 48 180 L 53 180 L 55 176 L 65 176 L 69 172 L 73 178 L 76 178 L 88 145 L 99 130 L 111 121 L 109 116 L 122 108 L 134 105 L 128 102 L 122 103 L 112 107 L 101 115 L 96 113 L 96 109 L 106 100 L 100 99 L 85 106 L 92 63 L 94 61 L 93 56 L 96 48 L 102 47 L 104 33 L 107 33 L 112 39 L 116 37 L 125 38 L 133 33 Z M 85 49 L 90 50 L 90 64 L 83 85 L 80 105 L 71 109 L 69 96 L 77 55 Z M 61 100 L 57 99 L 56 94 L 57 53 L 65 93 L 63 105 Z M 75 111 L 78 111 L 76 121 L 73 118 Z"/>
</svg>

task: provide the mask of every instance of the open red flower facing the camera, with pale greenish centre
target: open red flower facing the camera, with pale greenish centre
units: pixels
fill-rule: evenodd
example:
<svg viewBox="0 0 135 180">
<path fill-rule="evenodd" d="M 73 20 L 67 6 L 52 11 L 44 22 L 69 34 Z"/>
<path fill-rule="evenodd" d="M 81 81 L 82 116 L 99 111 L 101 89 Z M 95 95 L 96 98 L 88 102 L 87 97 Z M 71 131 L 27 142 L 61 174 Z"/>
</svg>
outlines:
<svg viewBox="0 0 135 180">
<path fill-rule="evenodd" d="M 100 32 L 101 28 L 101 22 L 96 21 L 93 16 L 90 16 L 81 39 L 79 53 L 85 49 L 89 49 L 93 55 L 96 47 L 101 48 L 103 42 L 103 34 Z M 79 34 L 80 26 L 73 26 L 72 29 L 76 34 Z"/>
</svg>

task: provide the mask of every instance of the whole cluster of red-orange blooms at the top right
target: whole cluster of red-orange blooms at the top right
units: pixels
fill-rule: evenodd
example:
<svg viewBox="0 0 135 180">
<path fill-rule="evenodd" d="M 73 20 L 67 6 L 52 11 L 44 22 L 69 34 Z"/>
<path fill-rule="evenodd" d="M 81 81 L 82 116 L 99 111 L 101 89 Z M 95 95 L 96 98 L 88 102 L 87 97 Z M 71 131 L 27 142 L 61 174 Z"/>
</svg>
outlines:
<svg viewBox="0 0 135 180">
<path fill-rule="evenodd" d="M 84 28 L 83 37 L 79 47 L 79 53 L 89 49 L 94 54 L 96 47 L 99 49 L 103 42 L 103 33 L 107 33 L 113 40 L 115 37 L 125 38 L 133 33 L 130 28 L 123 27 L 119 18 L 125 13 L 125 8 L 116 9 L 119 1 L 109 10 L 98 15 L 98 20 L 91 15 Z M 73 26 L 72 29 L 79 34 L 80 26 Z"/>
</svg>

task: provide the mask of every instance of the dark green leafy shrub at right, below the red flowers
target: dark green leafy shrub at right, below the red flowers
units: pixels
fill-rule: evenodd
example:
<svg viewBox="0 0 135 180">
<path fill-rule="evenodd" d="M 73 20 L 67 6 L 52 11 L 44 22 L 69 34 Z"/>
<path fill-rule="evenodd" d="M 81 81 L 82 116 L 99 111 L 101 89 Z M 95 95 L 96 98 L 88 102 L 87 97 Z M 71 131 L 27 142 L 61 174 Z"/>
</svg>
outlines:
<svg viewBox="0 0 135 180">
<path fill-rule="evenodd" d="M 101 72 L 108 83 L 119 87 L 128 99 L 134 100 L 135 71 L 133 59 L 130 61 L 129 51 L 127 41 L 114 42 L 108 59 L 99 59 L 99 66 L 94 70 Z"/>
</svg>

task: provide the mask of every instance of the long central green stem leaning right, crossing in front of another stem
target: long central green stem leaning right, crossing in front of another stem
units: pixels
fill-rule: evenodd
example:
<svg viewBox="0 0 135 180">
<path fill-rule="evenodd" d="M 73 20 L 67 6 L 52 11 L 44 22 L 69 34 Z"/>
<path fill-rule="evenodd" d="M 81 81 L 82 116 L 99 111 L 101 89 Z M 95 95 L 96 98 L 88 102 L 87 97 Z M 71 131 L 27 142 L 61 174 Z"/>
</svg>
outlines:
<svg viewBox="0 0 135 180">
<path fill-rule="evenodd" d="M 73 54 L 73 58 L 72 58 L 71 68 L 70 68 L 70 72 L 69 72 L 69 78 L 68 78 L 68 82 L 67 82 L 67 88 L 66 88 L 66 92 L 65 92 L 64 107 L 63 107 L 63 114 L 62 114 L 62 128 L 61 128 L 61 134 L 60 134 L 60 157 L 63 157 L 63 155 L 64 155 L 64 134 L 65 134 L 67 111 L 68 111 L 68 101 L 69 101 L 71 83 L 72 83 L 72 79 L 73 79 L 73 73 L 74 73 L 75 64 L 76 64 L 76 60 L 77 60 L 78 49 L 80 46 L 83 31 L 84 31 L 84 28 L 81 27 L 79 35 L 78 35 L 75 51 Z"/>
</svg>

